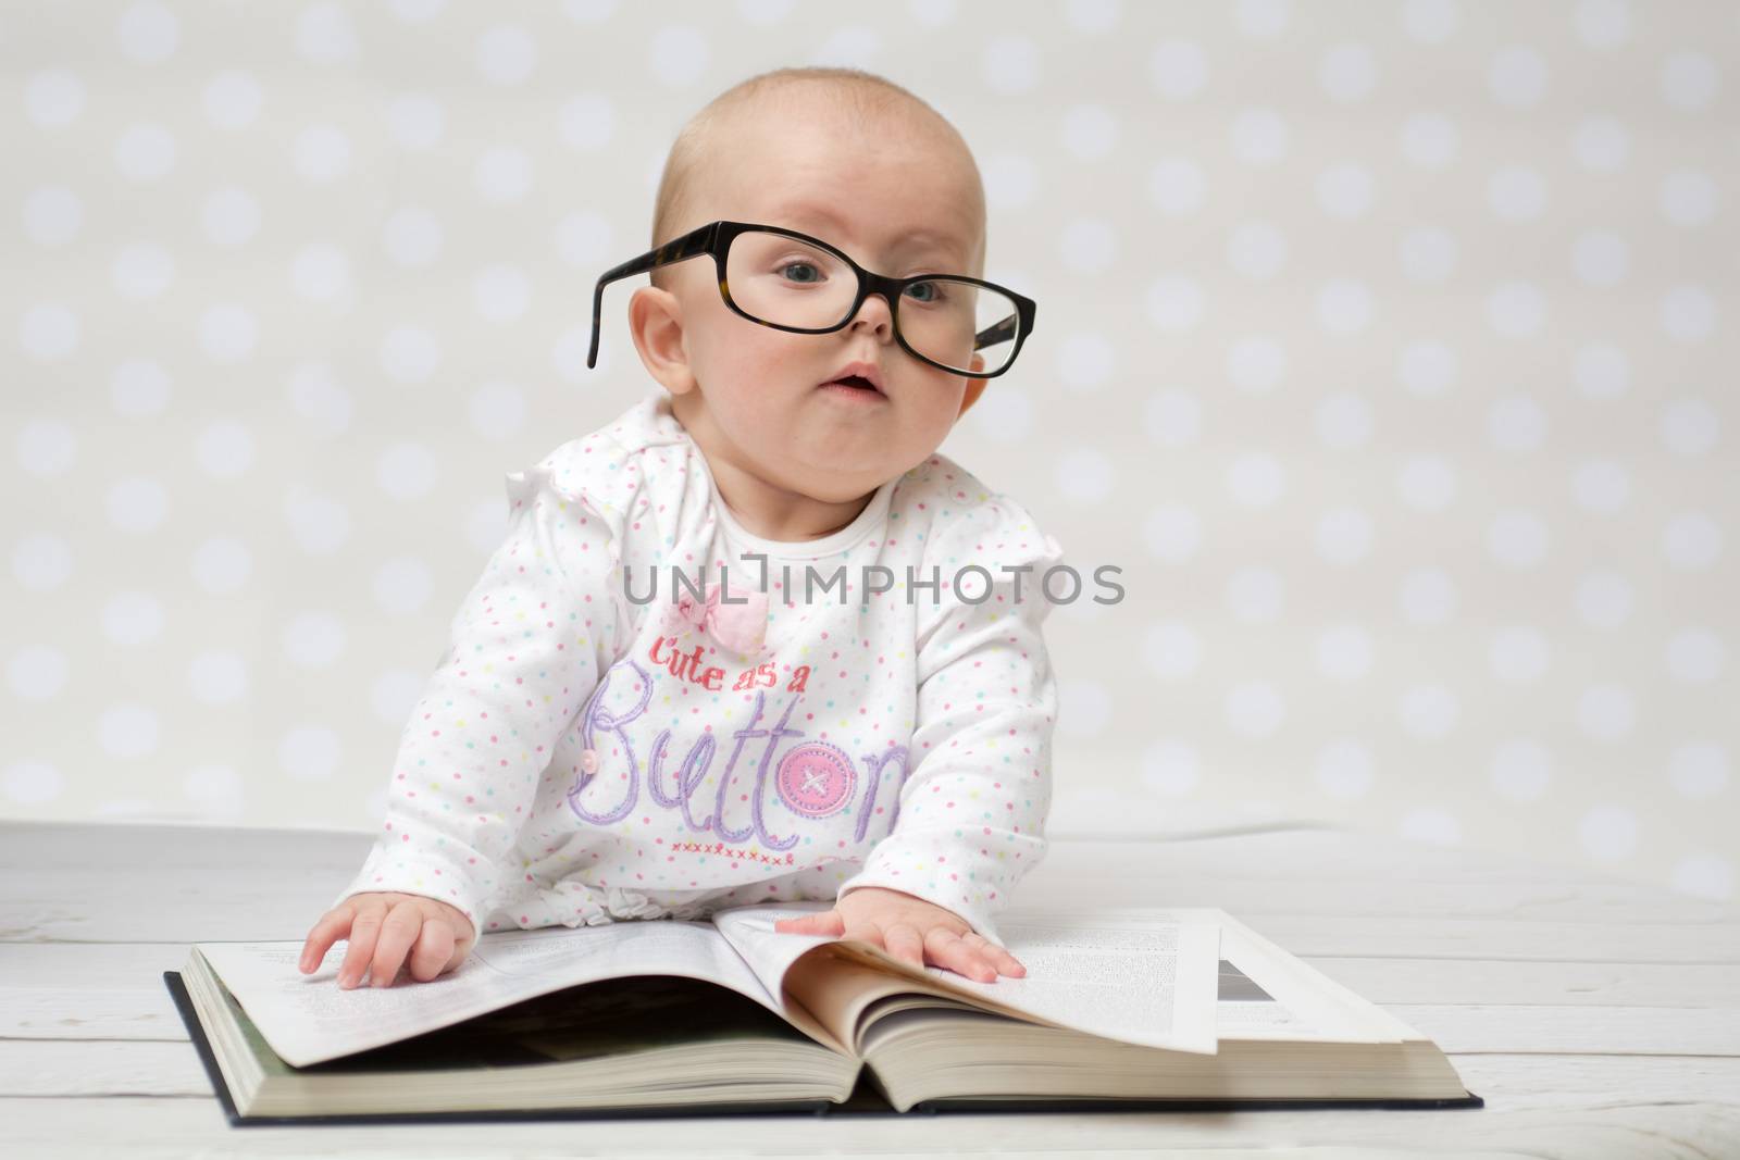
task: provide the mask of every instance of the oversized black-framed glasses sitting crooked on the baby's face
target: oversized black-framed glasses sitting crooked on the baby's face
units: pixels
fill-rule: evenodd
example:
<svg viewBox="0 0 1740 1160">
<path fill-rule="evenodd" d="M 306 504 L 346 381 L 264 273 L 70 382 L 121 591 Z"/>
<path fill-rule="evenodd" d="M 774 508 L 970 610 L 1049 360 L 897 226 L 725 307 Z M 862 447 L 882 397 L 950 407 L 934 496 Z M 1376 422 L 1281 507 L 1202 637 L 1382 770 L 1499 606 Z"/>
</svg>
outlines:
<svg viewBox="0 0 1740 1160">
<path fill-rule="evenodd" d="M 908 355 L 974 379 L 1007 370 L 1034 332 L 1034 299 L 995 282 L 941 273 L 887 278 L 807 233 L 715 221 L 604 271 L 592 290 L 586 365 L 599 360 L 607 283 L 703 254 L 713 257 L 726 306 L 750 322 L 793 334 L 830 334 L 856 318 L 868 296 L 880 294 L 894 323 L 894 341 Z M 985 360 L 978 370 L 971 365 L 973 355 Z"/>
</svg>

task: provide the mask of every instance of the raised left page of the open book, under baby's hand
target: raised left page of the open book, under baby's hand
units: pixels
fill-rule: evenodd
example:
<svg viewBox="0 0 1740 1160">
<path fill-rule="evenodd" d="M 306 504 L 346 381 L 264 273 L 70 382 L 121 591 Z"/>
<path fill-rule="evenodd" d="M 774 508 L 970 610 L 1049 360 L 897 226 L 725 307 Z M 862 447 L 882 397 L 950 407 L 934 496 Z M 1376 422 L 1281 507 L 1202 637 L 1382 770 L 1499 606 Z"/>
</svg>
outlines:
<svg viewBox="0 0 1740 1160">
<path fill-rule="evenodd" d="M 320 969 L 306 976 L 296 969 L 301 943 L 200 943 L 197 950 L 261 1037 L 298 1068 L 463 1023 L 567 986 L 628 976 L 703 979 L 780 1012 L 767 988 L 706 922 L 661 918 L 489 932 L 458 970 L 428 983 L 400 981 L 351 991 L 336 983 L 346 946 L 332 946 Z"/>
</svg>

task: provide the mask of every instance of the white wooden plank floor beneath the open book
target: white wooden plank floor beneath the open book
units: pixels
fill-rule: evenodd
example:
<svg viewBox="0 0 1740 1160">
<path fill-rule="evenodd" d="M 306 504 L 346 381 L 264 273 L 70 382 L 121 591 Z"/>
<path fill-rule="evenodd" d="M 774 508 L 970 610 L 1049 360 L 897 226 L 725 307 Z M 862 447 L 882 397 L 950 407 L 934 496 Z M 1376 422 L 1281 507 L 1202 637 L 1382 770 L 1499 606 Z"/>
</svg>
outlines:
<svg viewBox="0 0 1740 1160">
<path fill-rule="evenodd" d="M 1220 906 L 1434 1037 L 1484 1110 L 230 1129 L 162 972 L 301 939 L 367 843 L 0 823 L 0 1155 L 1740 1157 L 1740 908 L 1314 826 L 1058 840 L 1020 901 Z"/>
</svg>

